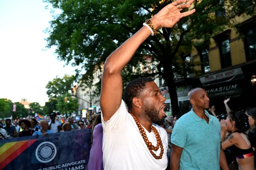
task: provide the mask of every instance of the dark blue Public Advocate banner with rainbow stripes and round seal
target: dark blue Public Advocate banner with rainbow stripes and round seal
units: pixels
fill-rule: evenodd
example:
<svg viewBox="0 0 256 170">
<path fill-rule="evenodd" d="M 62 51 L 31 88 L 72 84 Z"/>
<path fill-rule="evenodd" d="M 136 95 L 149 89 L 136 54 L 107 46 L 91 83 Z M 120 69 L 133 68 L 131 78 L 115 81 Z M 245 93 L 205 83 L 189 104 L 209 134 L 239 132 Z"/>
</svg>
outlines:
<svg viewBox="0 0 256 170">
<path fill-rule="evenodd" d="M 90 139 L 91 129 L 1 139 L 0 170 L 84 169 Z"/>
</svg>

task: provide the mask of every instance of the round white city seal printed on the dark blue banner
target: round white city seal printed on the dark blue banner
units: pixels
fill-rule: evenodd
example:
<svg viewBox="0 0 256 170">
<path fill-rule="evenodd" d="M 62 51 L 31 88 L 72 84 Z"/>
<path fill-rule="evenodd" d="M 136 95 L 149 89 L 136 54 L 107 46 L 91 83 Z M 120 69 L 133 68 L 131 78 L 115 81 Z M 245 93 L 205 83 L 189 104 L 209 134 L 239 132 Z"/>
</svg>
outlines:
<svg viewBox="0 0 256 170">
<path fill-rule="evenodd" d="M 56 146 L 49 141 L 42 142 L 35 150 L 35 156 L 39 162 L 47 163 L 52 161 L 57 154 Z"/>
</svg>

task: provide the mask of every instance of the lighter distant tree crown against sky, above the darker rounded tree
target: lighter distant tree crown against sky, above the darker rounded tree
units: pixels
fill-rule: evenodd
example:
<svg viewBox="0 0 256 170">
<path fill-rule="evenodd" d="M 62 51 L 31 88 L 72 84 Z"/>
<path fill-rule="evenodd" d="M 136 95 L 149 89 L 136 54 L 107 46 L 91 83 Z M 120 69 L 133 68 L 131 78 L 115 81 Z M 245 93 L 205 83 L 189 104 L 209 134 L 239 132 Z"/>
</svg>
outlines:
<svg viewBox="0 0 256 170">
<path fill-rule="evenodd" d="M 75 80 L 76 78 L 74 75 L 69 76 L 66 74 L 63 76 L 63 78 L 56 76 L 56 78 L 47 83 L 45 87 L 47 89 L 46 94 L 50 99 L 64 95 L 71 91 Z"/>
</svg>

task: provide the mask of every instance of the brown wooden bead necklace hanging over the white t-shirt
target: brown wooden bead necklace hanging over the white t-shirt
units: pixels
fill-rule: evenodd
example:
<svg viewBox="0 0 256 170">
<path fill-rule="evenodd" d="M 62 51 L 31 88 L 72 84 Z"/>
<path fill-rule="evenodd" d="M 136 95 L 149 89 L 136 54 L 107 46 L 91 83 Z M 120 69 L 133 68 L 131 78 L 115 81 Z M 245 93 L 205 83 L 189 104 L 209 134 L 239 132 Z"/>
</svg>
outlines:
<svg viewBox="0 0 256 170">
<path fill-rule="evenodd" d="M 145 141 L 148 150 L 150 151 L 151 155 L 155 158 L 155 159 L 162 159 L 163 156 L 163 143 L 161 140 L 161 137 L 157 131 L 157 129 L 154 126 L 151 126 L 151 130 L 155 133 L 155 137 L 157 138 L 157 146 L 153 146 L 152 143 L 148 140 L 148 137 L 146 135 L 146 132 L 144 131 L 144 128 L 142 127 L 142 125 L 140 124 L 140 122 L 137 120 L 137 118 L 135 116 L 133 116 L 133 114 L 130 112 L 130 114 L 132 115 L 134 121 L 136 122 L 136 125 L 139 128 L 140 134 L 143 138 L 143 140 Z M 158 151 L 158 149 L 161 148 L 161 152 L 159 154 L 159 156 L 155 155 L 154 151 Z"/>
</svg>

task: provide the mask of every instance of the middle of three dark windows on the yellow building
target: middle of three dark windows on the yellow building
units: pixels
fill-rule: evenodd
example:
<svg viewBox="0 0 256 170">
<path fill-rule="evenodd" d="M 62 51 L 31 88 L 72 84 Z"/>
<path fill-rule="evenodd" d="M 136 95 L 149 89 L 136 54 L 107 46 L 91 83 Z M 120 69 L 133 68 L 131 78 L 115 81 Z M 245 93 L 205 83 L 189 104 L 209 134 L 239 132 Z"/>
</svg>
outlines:
<svg viewBox="0 0 256 170">
<path fill-rule="evenodd" d="M 219 55 L 221 58 L 221 68 L 232 66 L 230 53 L 230 33 L 231 30 L 226 30 L 223 33 L 213 37 L 219 47 Z"/>
</svg>

